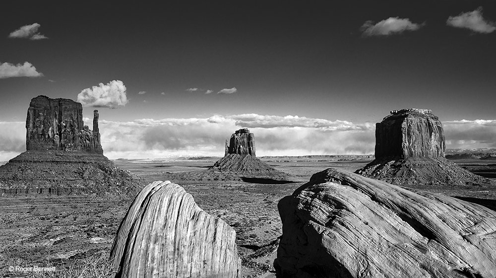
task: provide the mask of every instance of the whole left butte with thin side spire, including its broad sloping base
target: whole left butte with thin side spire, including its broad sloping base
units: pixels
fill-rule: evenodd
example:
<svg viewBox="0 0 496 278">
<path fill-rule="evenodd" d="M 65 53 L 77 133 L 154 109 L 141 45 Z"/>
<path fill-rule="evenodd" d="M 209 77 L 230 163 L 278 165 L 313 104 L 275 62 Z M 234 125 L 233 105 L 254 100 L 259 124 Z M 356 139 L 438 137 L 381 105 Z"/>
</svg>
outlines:
<svg viewBox="0 0 496 278">
<path fill-rule="evenodd" d="M 0 166 L 0 195 L 98 195 L 133 197 L 137 177 L 103 155 L 94 111 L 85 126 L 82 105 L 37 96 L 26 118 L 26 151 Z"/>
</svg>

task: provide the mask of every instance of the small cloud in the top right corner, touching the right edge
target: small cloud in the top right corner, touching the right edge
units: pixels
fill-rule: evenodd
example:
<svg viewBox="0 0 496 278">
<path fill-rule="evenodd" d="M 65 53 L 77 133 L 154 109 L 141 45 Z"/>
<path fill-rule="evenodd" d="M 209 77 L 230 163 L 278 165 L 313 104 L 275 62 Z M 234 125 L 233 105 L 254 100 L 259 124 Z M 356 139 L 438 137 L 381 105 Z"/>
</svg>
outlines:
<svg viewBox="0 0 496 278">
<path fill-rule="evenodd" d="M 457 16 L 450 16 L 446 20 L 448 26 L 456 28 L 466 28 L 477 33 L 492 33 L 496 30 L 496 23 L 487 21 L 482 16 L 482 7 L 474 11 L 460 13 Z"/>
</svg>

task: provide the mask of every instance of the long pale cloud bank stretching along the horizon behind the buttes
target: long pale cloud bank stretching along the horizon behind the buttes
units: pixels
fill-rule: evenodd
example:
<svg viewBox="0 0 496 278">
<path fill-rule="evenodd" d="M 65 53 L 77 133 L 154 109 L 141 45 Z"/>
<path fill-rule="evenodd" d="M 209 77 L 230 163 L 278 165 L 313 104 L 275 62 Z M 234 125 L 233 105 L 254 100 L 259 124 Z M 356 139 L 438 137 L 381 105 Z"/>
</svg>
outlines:
<svg viewBox="0 0 496 278">
<path fill-rule="evenodd" d="M 84 119 L 91 126 L 91 119 Z M 255 135 L 259 156 L 373 154 L 375 128 L 299 116 L 241 114 L 190 119 L 100 121 L 104 154 L 111 158 L 222 156 L 224 142 L 240 128 Z M 496 147 L 496 120 L 443 122 L 447 148 Z M 0 122 L 0 161 L 25 148 L 25 123 Z"/>
</svg>

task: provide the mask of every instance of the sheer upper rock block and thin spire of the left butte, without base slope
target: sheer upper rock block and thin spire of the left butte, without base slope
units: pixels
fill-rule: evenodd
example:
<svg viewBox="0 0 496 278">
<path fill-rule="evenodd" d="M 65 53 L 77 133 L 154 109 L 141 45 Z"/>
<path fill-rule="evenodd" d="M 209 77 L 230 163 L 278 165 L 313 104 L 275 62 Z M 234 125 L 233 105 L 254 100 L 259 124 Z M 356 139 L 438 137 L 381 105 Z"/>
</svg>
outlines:
<svg viewBox="0 0 496 278">
<path fill-rule="evenodd" d="M 83 123 L 80 103 L 70 99 L 37 96 L 26 118 L 27 150 L 63 150 L 103 153 L 95 110 L 93 131 Z"/>
</svg>

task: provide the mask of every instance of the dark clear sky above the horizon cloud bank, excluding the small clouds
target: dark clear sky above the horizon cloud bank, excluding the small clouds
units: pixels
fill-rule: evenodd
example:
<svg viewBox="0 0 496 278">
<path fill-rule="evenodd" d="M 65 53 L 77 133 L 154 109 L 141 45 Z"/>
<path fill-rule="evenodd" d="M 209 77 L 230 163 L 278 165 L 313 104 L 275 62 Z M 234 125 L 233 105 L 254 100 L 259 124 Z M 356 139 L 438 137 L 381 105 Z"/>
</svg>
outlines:
<svg viewBox="0 0 496 278">
<path fill-rule="evenodd" d="M 1 121 L 23 120 L 38 94 L 75 100 L 112 80 L 129 103 L 106 110 L 109 120 L 257 113 L 374 123 L 410 107 L 446 121 L 496 118 L 496 32 L 446 26 L 480 6 L 496 21 L 493 0 L 13 2 L 2 3 L 0 63 L 27 61 L 44 76 L 0 79 Z M 362 34 L 367 20 L 389 17 L 425 25 Z M 35 22 L 48 39 L 8 38 Z"/>
</svg>

